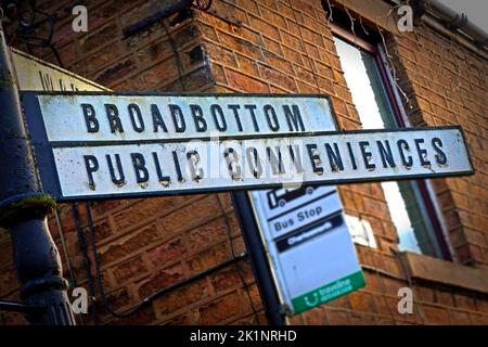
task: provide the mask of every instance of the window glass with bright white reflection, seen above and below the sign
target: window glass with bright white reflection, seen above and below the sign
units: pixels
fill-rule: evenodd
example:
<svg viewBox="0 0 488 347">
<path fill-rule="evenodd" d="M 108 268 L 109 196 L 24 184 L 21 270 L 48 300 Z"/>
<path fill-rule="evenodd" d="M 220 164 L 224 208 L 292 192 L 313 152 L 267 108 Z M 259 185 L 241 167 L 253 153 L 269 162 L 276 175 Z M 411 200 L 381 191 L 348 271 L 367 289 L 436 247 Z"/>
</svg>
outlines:
<svg viewBox="0 0 488 347">
<path fill-rule="evenodd" d="M 401 126 L 395 104 L 388 99 L 375 49 L 359 48 L 338 37 L 334 37 L 334 41 L 363 128 L 391 129 Z M 382 188 L 399 235 L 399 249 L 449 258 L 438 220 L 428 214 L 432 206 L 427 204 L 432 205 L 432 201 L 428 202 L 426 192 L 422 192 L 425 182 L 383 182 Z"/>
</svg>

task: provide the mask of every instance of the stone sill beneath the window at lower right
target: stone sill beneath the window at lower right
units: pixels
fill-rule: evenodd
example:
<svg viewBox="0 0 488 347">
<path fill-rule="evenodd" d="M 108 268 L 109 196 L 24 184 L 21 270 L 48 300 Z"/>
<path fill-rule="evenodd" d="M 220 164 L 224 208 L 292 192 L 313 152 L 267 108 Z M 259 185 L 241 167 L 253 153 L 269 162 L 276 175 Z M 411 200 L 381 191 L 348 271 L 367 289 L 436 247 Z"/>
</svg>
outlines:
<svg viewBox="0 0 488 347">
<path fill-rule="evenodd" d="M 410 252 L 400 257 L 412 279 L 488 293 L 488 270 L 467 267 Z"/>
</svg>

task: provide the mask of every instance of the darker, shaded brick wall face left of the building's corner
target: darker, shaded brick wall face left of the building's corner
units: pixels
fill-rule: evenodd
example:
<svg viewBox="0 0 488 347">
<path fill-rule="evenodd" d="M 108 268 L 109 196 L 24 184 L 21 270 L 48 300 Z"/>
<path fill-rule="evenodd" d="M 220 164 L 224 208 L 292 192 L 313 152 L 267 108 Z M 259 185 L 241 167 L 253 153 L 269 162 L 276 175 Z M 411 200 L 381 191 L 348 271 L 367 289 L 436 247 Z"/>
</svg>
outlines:
<svg viewBox="0 0 488 347">
<path fill-rule="evenodd" d="M 159 2 L 87 1 L 89 31 L 85 35 L 72 30 L 69 2 L 46 1 L 42 7 L 60 18 L 54 41 L 65 67 L 84 77 L 115 90 L 211 90 L 214 77 L 193 12 L 123 39 L 123 28 L 153 14 Z M 180 72 L 174 50 L 181 60 Z M 36 53 L 56 63 L 49 50 Z M 104 290 L 116 311 L 130 309 L 160 288 L 229 260 L 232 248 L 235 255 L 245 252 L 229 194 L 108 201 L 91 206 Z M 78 208 L 89 240 L 85 207 L 80 204 Z M 70 205 L 60 206 L 60 218 L 77 285 L 88 287 Z M 68 278 L 53 218 L 50 230 Z M 1 236 L 0 296 L 16 298 L 10 241 L 7 233 Z M 88 253 L 91 257 L 91 248 Z M 93 259 L 91 264 L 94 273 Z M 261 307 L 251 266 L 241 260 L 168 292 L 130 318 L 114 319 L 101 305 L 98 310 L 101 322 L 110 324 L 257 324 L 266 322 Z M 23 321 L 18 314 L 2 317 L 5 323 Z M 92 323 L 92 318 L 86 321 Z"/>
</svg>

